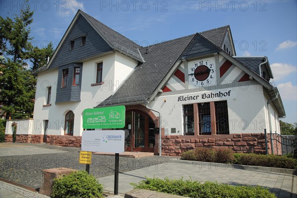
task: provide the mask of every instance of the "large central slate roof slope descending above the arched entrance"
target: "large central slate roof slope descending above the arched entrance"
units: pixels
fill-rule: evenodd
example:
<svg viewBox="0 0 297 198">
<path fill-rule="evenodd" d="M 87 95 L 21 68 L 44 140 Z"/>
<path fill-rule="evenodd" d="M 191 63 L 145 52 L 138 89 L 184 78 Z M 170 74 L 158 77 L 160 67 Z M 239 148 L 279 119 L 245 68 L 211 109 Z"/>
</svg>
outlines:
<svg viewBox="0 0 297 198">
<path fill-rule="evenodd" d="M 193 38 L 190 35 L 140 49 L 146 62 L 135 69 L 112 97 L 99 102 L 98 107 L 145 103 Z"/>
</svg>

